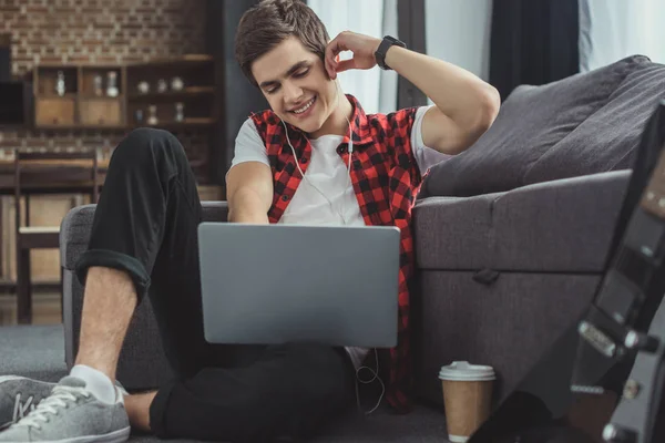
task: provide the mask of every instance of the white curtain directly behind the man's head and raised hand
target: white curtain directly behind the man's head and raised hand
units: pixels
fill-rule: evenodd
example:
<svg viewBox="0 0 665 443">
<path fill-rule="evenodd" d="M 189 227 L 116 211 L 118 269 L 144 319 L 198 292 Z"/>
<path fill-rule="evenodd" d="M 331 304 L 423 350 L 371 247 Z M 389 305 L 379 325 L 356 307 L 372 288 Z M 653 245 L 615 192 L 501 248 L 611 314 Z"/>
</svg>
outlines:
<svg viewBox="0 0 665 443">
<path fill-rule="evenodd" d="M 385 29 L 383 8 L 386 2 L 397 0 L 308 0 L 307 4 L 321 19 L 330 39 L 342 31 L 354 31 L 381 38 Z M 397 14 L 393 17 L 397 29 Z M 349 59 L 350 53 L 341 53 L 341 59 Z M 352 94 L 362 104 L 366 113 L 386 112 L 391 107 L 390 95 L 397 102 L 397 82 L 391 85 L 390 75 L 385 75 L 378 66 L 371 70 L 351 70 L 339 74 L 339 82 L 345 93 Z M 381 86 L 385 87 L 381 87 Z M 389 92 L 395 87 L 392 93 Z M 395 103 L 392 103 L 395 109 Z M 392 110 L 390 110 L 392 111 Z"/>
</svg>

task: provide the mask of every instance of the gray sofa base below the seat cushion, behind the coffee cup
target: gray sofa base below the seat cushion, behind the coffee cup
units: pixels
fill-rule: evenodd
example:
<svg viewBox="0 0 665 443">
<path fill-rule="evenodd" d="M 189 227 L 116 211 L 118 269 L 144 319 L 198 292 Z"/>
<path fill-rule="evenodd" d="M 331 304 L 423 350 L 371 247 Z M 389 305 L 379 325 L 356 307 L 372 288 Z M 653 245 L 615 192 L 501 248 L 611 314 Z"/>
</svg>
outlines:
<svg viewBox="0 0 665 443">
<path fill-rule="evenodd" d="M 600 275 L 500 272 L 482 284 L 474 271 L 424 270 L 413 315 L 417 392 L 441 403 L 437 378 L 454 360 L 491 364 L 500 403 L 589 306 Z"/>
</svg>

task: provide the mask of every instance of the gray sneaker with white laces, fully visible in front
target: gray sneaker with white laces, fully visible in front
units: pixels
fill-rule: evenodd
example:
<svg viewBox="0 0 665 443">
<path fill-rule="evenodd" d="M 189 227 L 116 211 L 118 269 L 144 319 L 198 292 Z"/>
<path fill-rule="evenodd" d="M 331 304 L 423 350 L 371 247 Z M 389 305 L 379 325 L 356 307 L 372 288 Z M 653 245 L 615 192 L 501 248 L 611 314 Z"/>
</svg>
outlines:
<svg viewBox="0 0 665 443">
<path fill-rule="evenodd" d="M 104 403 L 85 389 L 83 380 L 65 377 L 34 411 L 0 432 L 0 442 L 125 442 L 130 421 L 121 389 L 115 392 L 115 403 Z"/>
</svg>

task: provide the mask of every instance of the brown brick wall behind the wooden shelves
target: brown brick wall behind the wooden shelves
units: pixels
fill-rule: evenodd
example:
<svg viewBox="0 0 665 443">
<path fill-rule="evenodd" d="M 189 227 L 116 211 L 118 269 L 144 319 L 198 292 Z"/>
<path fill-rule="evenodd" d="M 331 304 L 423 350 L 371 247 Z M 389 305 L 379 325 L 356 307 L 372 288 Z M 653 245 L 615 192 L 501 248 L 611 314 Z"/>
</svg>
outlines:
<svg viewBox="0 0 665 443">
<path fill-rule="evenodd" d="M 124 63 L 205 52 L 204 0 L 0 0 L 0 34 L 12 39 L 12 73 L 38 63 Z M 0 131 L 0 148 L 112 150 L 119 131 Z M 196 131 L 176 134 L 192 159 L 205 155 Z M 0 151 L 0 155 L 6 155 Z"/>
</svg>

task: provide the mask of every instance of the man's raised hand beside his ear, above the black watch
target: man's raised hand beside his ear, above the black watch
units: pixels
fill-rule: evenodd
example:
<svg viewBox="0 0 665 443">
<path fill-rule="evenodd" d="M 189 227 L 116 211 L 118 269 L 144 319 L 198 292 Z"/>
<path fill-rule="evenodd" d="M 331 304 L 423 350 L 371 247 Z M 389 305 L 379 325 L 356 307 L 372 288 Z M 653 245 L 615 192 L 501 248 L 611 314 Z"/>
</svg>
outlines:
<svg viewBox="0 0 665 443">
<path fill-rule="evenodd" d="M 377 64 L 375 52 L 381 44 L 380 39 L 345 31 L 338 34 L 326 48 L 326 71 L 335 80 L 338 72 L 350 69 L 368 70 Z M 349 60 L 337 60 L 342 51 L 351 51 L 354 56 Z"/>
</svg>

